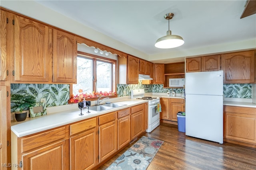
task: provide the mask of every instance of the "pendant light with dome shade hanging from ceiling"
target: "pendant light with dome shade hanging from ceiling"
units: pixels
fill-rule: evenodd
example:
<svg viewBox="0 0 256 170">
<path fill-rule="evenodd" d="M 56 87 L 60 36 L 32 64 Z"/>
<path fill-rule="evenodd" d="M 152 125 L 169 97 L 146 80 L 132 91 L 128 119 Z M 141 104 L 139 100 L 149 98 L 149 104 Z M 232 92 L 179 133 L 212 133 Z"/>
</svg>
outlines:
<svg viewBox="0 0 256 170">
<path fill-rule="evenodd" d="M 164 15 L 164 18 L 168 20 L 168 31 L 166 32 L 166 36 L 159 38 L 155 47 L 160 49 L 171 49 L 175 47 L 179 47 L 184 44 L 184 40 L 179 35 L 172 35 L 172 31 L 170 31 L 170 20 L 173 18 L 173 13 L 168 13 Z"/>
</svg>

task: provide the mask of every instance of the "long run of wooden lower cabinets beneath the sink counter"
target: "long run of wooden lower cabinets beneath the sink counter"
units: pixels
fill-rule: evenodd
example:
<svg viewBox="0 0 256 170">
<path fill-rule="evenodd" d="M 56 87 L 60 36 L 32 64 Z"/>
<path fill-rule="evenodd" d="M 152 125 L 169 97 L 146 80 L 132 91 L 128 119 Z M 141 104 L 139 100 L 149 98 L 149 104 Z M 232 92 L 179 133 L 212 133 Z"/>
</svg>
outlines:
<svg viewBox="0 0 256 170">
<path fill-rule="evenodd" d="M 11 132 L 12 169 L 95 169 L 145 132 L 144 110 L 140 104 L 24 137 Z"/>
</svg>

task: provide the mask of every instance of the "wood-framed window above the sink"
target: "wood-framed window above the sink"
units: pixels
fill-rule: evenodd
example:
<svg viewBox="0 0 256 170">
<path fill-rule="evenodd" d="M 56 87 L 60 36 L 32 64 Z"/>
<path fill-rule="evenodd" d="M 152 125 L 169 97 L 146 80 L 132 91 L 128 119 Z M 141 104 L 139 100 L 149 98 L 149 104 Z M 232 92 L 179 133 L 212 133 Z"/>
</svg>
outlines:
<svg viewBox="0 0 256 170">
<path fill-rule="evenodd" d="M 78 52 L 77 57 L 77 84 L 73 84 L 70 91 L 74 95 L 82 89 L 83 93 L 115 92 L 116 90 L 116 61 Z"/>
</svg>

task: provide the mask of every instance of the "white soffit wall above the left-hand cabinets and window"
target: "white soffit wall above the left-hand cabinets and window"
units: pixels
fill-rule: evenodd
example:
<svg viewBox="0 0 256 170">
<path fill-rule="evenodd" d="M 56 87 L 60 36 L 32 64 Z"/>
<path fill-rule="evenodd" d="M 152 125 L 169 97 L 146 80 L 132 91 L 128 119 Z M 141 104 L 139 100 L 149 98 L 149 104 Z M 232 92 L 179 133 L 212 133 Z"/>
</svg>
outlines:
<svg viewBox="0 0 256 170">
<path fill-rule="evenodd" d="M 108 47 L 112 47 L 119 51 L 138 56 L 142 59 L 148 60 L 148 55 L 138 51 L 120 41 L 116 41 L 78 21 L 72 20 L 58 12 L 50 10 L 41 4 L 30 0 L 0 0 L 0 5 L 4 8 L 18 12 L 30 18 L 48 23 L 55 27 L 64 29 L 66 31 L 75 33 L 87 39 L 91 39 Z"/>
</svg>

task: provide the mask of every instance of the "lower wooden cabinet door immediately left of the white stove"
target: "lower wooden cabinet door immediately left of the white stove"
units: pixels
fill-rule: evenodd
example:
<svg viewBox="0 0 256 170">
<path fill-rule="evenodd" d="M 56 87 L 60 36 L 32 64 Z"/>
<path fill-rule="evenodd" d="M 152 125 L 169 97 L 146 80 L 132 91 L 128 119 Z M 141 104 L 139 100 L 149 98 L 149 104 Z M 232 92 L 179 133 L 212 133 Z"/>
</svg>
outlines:
<svg viewBox="0 0 256 170">
<path fill-rule="evenodd" d="M 144 131 L 143 129 L 143 110 L 138 111 L 131 115 L 131 139 L 137 137 L 140 133 Z"/>
</svg>

